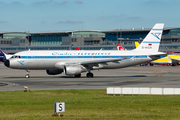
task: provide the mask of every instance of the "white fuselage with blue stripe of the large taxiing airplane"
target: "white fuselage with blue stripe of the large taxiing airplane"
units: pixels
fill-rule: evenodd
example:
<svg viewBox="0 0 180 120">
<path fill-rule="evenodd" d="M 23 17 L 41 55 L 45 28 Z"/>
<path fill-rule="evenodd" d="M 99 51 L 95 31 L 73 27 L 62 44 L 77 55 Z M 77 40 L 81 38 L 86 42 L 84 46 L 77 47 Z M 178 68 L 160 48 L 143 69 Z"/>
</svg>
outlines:
<svg viewBox="0 0 180 120">
<path fill-rule="evenodd" d="M 157 53 L 156 53 L 157 54 Z M 162 53 L 159 53 L 162 54 Z M 142 51 L 24 51 L 15 54 L 21 58 L 10 59 L 10 68 L 15 69 L 63 69 L 67 64 L 86 61 L 119 59 L 115 62 L 100 62 L 93 69 L 112 69 L 137 65 L 153 60 Z M 120 60 L 122 59 L 122 60 Z"/>
</svg>

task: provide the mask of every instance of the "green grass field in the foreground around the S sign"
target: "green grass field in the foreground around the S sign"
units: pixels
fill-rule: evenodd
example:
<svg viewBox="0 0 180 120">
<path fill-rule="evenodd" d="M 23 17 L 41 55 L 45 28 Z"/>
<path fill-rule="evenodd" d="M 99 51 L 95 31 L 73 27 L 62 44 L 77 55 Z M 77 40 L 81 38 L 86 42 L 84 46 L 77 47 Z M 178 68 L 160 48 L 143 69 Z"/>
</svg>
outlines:
<svg viewBox="0 0 180 120">
<path fill-rule="evenodd" d="M 65 102 L 63 117 L 52 116 Z M 180 119 L 179 95 L 107 96 L 106 90 L 0 92 L 0 119 Z"/>
</svg>

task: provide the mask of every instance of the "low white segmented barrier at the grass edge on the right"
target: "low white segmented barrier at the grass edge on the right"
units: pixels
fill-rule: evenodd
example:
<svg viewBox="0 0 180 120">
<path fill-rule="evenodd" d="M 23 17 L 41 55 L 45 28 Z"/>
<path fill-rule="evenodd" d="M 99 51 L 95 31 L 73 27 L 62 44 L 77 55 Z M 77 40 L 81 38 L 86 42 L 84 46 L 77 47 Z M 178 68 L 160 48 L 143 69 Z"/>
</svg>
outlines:
<svg viewBox="0 0 180 120">
<path fill-rule="evenodd" d="M 180 95 L 180 88 L 108 87 L 107 95 Z"/>
</svg>

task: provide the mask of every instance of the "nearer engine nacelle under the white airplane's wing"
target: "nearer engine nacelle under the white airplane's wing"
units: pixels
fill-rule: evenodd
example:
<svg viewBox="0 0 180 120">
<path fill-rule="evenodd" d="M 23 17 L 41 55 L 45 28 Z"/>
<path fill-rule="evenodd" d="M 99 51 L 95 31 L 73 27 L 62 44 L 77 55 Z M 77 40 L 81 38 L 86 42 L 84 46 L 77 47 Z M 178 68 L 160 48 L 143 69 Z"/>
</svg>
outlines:
<svg viewBox="0 0 180 120">
<path fill-rule="evenodd" d="M 66 75 L 78 75 L 82 72 L 86 72 L 87 70 L 84 69 L 82 66 L 78 65 L 67 65 L 64 66 L 64 73 Z"/>
</svg>

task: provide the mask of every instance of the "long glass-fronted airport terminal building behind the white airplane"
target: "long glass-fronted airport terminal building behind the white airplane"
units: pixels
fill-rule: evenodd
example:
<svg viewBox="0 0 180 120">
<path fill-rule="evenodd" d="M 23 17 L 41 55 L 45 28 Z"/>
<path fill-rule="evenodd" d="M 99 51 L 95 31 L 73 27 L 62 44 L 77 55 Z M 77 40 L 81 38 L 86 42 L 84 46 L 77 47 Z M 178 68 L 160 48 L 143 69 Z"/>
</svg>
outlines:
<svg viewBox="0 0 180 120">
<path fill-rule="evenodd" d="M 111 31 L 5 32 L 0 33 L 0 48 L 6 53 L 23 50 L 116 50 L 116 44 L 135 49 L 151 29 Z M 180 52 L 180 28 L 164 28 L 162 52 Z"/>
</svg>

